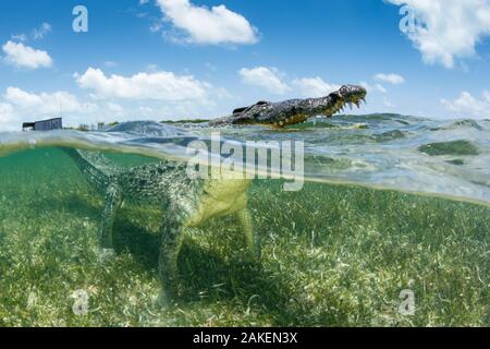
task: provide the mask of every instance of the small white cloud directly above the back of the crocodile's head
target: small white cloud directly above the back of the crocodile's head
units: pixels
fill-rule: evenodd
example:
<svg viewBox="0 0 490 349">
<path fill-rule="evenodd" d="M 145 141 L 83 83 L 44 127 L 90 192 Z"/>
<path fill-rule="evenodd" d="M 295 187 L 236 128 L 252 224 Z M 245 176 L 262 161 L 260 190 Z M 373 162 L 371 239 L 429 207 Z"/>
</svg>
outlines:
<svg viewBox="0 0 490 349">
<path fill-rule="evenodd" d="M 238 74 L 245 84 L 266 88 L 277 95 L 291 91 L 291 87 L 281 80 L 281 72 L 275 68 L 243 68 L 238 71 Z"/>
</svg>

